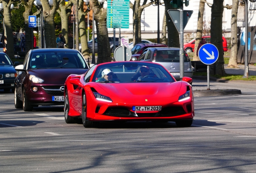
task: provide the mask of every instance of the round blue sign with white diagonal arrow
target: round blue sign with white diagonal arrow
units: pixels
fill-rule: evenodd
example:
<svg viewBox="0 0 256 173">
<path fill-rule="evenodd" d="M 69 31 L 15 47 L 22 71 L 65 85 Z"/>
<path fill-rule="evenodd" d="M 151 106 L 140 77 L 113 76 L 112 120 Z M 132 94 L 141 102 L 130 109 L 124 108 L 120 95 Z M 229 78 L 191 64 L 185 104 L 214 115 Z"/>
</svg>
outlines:
<svg viewBox="0 0 256 173">
<path fill-rule="evenodd" d="M 219 58 L 219 50 L 213 44 L 203 44 L 198 50 L 198 57 L 206 65 L 213 64 Z"/>
</svg>

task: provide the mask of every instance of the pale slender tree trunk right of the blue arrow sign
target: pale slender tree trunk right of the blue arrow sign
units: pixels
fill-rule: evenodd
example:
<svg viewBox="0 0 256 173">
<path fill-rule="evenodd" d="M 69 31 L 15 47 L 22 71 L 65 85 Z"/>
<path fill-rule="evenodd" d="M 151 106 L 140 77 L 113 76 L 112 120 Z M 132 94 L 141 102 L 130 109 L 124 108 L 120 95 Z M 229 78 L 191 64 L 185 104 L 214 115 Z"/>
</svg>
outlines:
<svg viewBox="0 0 256 173">
<path fill-rule="evenodd" d="M 238 68 L 237 66 L 237 10 L 238 0 L 232 0 L 232 11 L 231 11 L 231 50 L 229 68 Z"/>
</svg>

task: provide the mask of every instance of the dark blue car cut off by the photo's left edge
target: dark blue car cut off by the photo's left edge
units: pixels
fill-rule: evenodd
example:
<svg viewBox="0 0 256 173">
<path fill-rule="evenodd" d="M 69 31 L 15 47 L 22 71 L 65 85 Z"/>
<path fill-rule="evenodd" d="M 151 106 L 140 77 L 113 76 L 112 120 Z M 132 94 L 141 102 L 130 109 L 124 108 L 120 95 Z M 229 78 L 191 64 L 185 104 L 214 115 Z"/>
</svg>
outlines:
<svg viewBox="0 0 256 173">
<path fill-rule="evenodd" d="M 5 92 L 12 90 L 14 93 L 14 79 L 17 76 L 14 66 L 17 65 L 19 62 L 13 64 L 6 53 L 0 52 L 0 89 Z"/>
</svg>

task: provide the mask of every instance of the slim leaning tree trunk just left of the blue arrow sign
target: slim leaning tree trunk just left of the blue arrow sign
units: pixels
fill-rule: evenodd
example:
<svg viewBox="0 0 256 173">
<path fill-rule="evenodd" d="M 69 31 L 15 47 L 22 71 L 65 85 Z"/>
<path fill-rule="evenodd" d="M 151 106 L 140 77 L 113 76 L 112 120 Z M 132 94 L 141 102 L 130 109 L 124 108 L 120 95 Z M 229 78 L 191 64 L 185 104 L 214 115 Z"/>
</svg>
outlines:
<svg viewBox="0 0 256 173">
<path fill-rule="evenodd" d="M 196 51 L 199 42 L 202 39 L 202 31 L 203 31 L 203 19 L 204 19 L 204 2 L 200 0 L 199 2 L 199 11 L 198 11 L 198 18 L 197 18 L 197 29 L 196 29 L 196 41 L 195 41 L 195 47 L 194 47 L 194 56 L 193 60 L 200 60 L 198 56 L 196 56 Z"/>
</svg>

